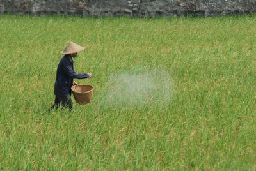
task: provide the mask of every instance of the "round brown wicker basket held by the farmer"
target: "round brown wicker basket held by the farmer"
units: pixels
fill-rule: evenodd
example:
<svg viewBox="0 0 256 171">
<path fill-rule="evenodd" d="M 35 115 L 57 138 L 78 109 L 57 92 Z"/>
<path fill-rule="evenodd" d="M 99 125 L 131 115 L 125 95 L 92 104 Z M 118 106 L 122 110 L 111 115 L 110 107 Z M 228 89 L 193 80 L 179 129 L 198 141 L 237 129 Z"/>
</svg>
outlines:
<svg viewBox="0 0 256 171">
<path fill-rule="evenodd" d="M 86 104 L 90 103 L 93 95 L 93 87 L 91 85 L 76 85 L 71 87 L 73 96 L 77 103 Z"/>
</svg>

